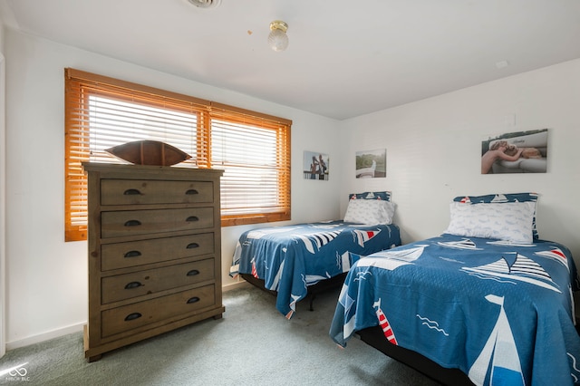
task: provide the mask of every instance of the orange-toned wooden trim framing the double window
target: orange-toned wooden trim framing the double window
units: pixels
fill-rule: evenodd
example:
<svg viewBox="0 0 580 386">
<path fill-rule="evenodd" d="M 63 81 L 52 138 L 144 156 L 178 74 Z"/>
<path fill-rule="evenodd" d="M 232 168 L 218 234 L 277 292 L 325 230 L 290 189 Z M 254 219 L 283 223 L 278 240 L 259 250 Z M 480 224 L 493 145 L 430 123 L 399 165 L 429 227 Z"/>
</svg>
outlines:
<svg viewBox="0 0 580 386">
<path fill-rule="evenodd" d="M 111 91 L 100 91 L 103 94 L 108 92 L 115 94 L 115 92 L 131 93 L 139 92 L 141 98 L 150 96 L 149 102 L 151 105 L 158 105 L 160 107 L 171 106 L 172 110 L 181 109 L 184 103 L 189 103 L 196 111 L 201 111 L 198 119 L 198 128 L 196 142 L 198 143 L 198 168 L 211 168 L 211 119 L 212 117 L 226 117 L 227 121 L 237 121 L 239 123 L 253 124 L 257 127 L 275 128 L 282 126 L 285 129 L 280 137 L 282 149 L 277 151 L 276 163 L 279 164 L 278 173 L 278 199 L 279 207 L 274 212 L 266 213 L 252 213 L 246 215 L 222 216 L 222 227 L 238 226 L 247 224 L 257 224 L 266 222 L 283 221 L 290 219 L 290 129 L 292 121 L 284 118 L 275 117 L 256 111 L 249 111 L 235 106 L 219 103 L 216 101 L 207 101 L 189 95 L 160 90 L 158 88 L 134 83 L 126 82 L 111 77 L 94 74 L 91 72 L 83 72 L 80 70 L 66 68 L 65 75 L 65 130 L 64 130 L 64 159 L 65 159 L 65 241 L 86 240 L 87 225 L 73 224 L 73 204 L 77 203 L 75 199 L 83 193 L 86 194 L 86 176 L 82 171 L 82 161 L 90 160 L 89 143 L 83 140 L 83 136 L 88 135 L 82 133 L 84 126 L 88 124 L 82 122 L 79 118 L 78 104 L 82 103 L 83 98 L 88 98 L 87 95 L 77 94 L 76 100 L 71 101 L 73 94 L 72 87 L 76 87 L 78 83 L 86 85 L 106 86 L 105 89 L 111 88 Z M 77 82 L 77 83 L 73 83 Z M 92 92 L 95 92 L 94 90 Z M 188 110 L 185 109 L 184 110 Z M 218 118 L 221 119 L 221 118 Z M 81 128 L 81 129 L 79 129 Z M 79 137 L 79 134 L 81 136 Z M 75 149 L 73 151 L 73 149 Z M 84 185 L 82 181 L 84 179 Z M 77 195 L 77 196 L 75 196 Z"/>
</svg>

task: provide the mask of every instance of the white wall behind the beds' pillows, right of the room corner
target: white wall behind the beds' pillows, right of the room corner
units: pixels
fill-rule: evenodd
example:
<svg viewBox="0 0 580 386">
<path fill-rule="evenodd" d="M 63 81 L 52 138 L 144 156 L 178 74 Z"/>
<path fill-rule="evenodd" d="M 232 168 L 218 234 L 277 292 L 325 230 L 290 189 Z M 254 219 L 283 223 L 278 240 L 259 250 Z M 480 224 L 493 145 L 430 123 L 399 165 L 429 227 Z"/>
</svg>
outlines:
<svg viewBox="0 0 580 386">
<path fill-rule="evenodd" d="M 543 128 L 547 173 L 480 174 L 481 140 L 489 134 Z M 540 194 L 539 236 L 565 244 L 580 262 L 580 60 L 343 121 L 341 135 L 349 176 L 341 197 L 391 190 L 403 242 L 440 235 L 455 196 L 532 191 Z M 381 148 L 387 177 L 355 179 L 355 152 Z"/>
</svg>

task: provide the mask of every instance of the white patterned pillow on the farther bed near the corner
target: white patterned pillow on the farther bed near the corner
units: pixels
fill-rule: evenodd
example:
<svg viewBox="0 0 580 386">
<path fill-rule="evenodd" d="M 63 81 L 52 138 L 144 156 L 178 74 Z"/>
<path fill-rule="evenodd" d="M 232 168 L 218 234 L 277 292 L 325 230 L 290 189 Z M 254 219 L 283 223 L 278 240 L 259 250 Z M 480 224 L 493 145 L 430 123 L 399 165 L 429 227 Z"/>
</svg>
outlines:
<svg viewBox="0 0 580 386">
<path fill-rule="evenodd" d="M 391 224 L 395 207 L 383 199 L 351 199 L 344 214 L 344 222 L 366 225 Z"/>
</svg>

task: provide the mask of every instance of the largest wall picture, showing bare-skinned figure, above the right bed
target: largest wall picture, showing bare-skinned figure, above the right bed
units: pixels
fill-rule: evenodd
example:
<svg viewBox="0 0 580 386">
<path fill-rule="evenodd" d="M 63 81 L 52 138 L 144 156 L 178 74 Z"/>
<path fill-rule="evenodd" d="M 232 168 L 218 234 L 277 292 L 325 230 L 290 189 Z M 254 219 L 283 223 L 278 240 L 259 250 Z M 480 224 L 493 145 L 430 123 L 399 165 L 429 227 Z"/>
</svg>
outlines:
<svg viewBox="0 0 580 386">
<path fill-rule="evenodd" d="M 546 173 L 547 129 L 515 131 L 481 142 L 481 174 Z"/>
</svg>

